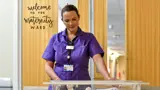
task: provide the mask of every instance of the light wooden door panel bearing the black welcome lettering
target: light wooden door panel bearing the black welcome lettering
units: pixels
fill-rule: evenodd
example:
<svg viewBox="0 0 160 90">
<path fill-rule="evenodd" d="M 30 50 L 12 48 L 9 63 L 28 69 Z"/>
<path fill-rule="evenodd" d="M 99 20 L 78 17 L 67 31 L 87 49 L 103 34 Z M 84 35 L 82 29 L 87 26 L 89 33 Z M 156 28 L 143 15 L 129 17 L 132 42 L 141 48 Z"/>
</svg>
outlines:
<svg viewBox="0 0 160 90">
<path fill-rule="evenodd" d="M 49 80 L 41 57 L 51 36 L 58 32 L 57 12 L 57 0 L 23 0 L 23 86 L 41 86 Z"/>
</svg>

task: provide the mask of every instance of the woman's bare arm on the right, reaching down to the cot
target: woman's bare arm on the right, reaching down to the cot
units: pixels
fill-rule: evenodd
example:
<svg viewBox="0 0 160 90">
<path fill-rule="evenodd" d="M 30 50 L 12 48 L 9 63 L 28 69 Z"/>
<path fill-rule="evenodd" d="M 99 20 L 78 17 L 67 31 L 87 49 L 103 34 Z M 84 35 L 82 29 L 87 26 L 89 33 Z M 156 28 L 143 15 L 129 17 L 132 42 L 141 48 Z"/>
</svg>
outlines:
<svg viewBox="0 0 160 90">
<path fill-rule="evenodd" d="M 96 54 L 93 56 L 93 60 L 104 79 L 111 79 L 102 56 L 100 54 Z"/>
</svg>

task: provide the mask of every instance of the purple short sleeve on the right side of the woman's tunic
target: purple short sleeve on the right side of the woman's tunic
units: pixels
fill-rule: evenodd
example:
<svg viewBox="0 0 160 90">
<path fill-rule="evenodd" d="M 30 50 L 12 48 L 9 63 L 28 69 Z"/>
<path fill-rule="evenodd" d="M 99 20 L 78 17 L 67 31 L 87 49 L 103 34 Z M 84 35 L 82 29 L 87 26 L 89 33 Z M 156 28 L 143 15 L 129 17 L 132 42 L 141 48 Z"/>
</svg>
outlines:
<svg viewBox="0 0 160 90">
<path fill-rule="evenodd" d="M 91 34 L 89 42 L 89 55 L 93 57 L 96 54 L 101 54 L 104 56 L 104 51 L 102 50 L 101 46 L 99 45 L 98 41 L 96 40 L 95 36 Z"/>
</svg>

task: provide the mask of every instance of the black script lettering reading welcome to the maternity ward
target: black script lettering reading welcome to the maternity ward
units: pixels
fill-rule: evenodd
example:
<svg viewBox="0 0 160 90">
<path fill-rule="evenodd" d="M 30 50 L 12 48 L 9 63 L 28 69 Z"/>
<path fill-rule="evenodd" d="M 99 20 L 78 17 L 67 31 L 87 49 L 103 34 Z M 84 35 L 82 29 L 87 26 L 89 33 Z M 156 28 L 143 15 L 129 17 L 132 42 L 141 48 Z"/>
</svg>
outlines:
<svg viewBox="0 0 160 90">
<path fill-rule="evenodd" d="M 23 20 L 25 25 L 28 24 L 31 30 L 46 30 L 54 27 L 54 20 L 49 12 L 52 12 L 51 5 L 35 3 L 25 7 L 27 15 Z"/>
</svg>

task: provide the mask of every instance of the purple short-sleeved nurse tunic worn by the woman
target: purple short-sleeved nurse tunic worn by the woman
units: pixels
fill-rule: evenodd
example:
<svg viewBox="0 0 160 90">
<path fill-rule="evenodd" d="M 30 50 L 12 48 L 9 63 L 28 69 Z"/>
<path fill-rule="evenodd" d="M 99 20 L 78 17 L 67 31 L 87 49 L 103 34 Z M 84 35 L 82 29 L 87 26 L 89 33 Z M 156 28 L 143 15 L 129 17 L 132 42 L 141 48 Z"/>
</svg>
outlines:
<svg viewBox="0 0 160 90">
<path fill-rule="evenodd" d="M 68 64 L 68 38 L 66 29 L 52 36 L 42 58 L 55 63 L 54 72 L 61 80 L 90 80 L 88 72 L 89 58 L 96 54 L 104 55 L 104 51 L 92 33 L 83 32 L 80 28 L 73 41 L 74 49 L 71 52 L 70 64 L 74 70 L 64 71 L 64 65 Z"/>
</svg>

